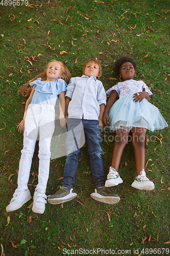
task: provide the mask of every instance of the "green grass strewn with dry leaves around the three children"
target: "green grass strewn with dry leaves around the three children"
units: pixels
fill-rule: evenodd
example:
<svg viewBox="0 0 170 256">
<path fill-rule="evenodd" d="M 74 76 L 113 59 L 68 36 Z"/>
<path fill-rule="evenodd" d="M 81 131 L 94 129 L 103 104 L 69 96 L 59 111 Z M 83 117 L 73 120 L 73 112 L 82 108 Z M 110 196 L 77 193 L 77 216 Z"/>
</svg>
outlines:
<svg viewBox="0 0 170 256">
<path fill-rule="evenodd" d="M 83 147 L 74 185 L 77 199 L 64 203 L 63 208 L 47 203 L 43 215 L 28 208 L 32 201 L 10 213 L 6 206 L 17 186 L 23 135 L 16 126 L 25 109 L 22 103 L 27 100 L 17 94 L 17 89 L 40 73 L 51 59 L 65 62 L 74 77 L 81 76 L 88 58 L 98 58 L 103 68 L 101 81 L 107 90 L 118 81 L 113 72 L 116 58 L 131 56 L 138 63 L 136 79 L 143 79 L 150 87 L 152 103 L 169 124 L 169 7 L 167 0 L 51 0 L 30 1 L 28 7 L 0 5 L 0 243 L 6 256 L 63 255 L 64 248 L 70 250 L 65 255 L 74 255 L 71 250 L 80 248 L 111 249 L 114 255 L 121 256 L 127 255 L 126 250 L 139 255 L 148 248 L 150 251 L 142 251 L 142 255 L 168 255 L 163 248 L 169 249 L 166 242 L 170 239 L 169 127 L 154 133 L 147 131 L 150 140 L 145 141 L 145 169 L 154 181 L 153 191 L 131 187 L 135 158 L 133 146 L 128 143 L 119 167 L 124 183 L 112 188 L 120 202 L 107 205 L 92 200 L 94 184 L 87 147 Z M 61 55 L 63 50 L 67 53 Z M 108 141 L 112 135 L 115 133 L 102 133 L 105 177 L 112 158 L 114 142 Z M 154 136 L 162 138 L 162 144 Z M 37 184 L 37 154 L 38 144 L 29 180 L 32 195 Z M 64 157 L 51 161 L 47 195 L 61 184 L 64 163 Z M 161 253 L 154 248 L 160 248 Z M 77 255 L 92 254 L 87 252 L 79 251 Z"/>
</svg>

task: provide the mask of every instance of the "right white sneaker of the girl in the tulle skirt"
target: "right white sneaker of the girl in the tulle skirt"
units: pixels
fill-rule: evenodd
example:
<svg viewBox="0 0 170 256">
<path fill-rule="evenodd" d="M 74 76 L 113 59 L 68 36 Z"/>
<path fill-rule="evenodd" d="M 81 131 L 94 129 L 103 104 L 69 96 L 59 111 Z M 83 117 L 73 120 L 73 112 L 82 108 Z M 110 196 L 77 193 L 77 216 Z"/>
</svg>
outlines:
<svg viewBox="0 0 170 256">
<path fill-rule="evenodd" d="M 155 188 L 154 183 L 147 178 L 144 169 L 140 171 L 140 175 L 136 177 L 131 186 L 140 190 L 153 190 Z"/>
</svg>

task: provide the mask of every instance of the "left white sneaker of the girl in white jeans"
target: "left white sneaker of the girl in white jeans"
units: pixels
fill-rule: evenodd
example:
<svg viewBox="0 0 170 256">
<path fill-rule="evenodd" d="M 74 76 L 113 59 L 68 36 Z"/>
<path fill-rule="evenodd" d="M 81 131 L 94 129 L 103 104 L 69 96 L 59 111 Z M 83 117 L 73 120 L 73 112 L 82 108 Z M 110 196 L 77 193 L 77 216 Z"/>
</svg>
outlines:
<svg viewBox="0 0 170 256">
<path fill-rule="evenodd" d="M 27 203 L 32 198 L 30 190 L 18 191 L 18 188 L 15 189 L 13 198 L 10 201 L 10 204 L 6 207 L 7 212 L 14 211 L 19 209 L 23 204 Z"/>
</svg>

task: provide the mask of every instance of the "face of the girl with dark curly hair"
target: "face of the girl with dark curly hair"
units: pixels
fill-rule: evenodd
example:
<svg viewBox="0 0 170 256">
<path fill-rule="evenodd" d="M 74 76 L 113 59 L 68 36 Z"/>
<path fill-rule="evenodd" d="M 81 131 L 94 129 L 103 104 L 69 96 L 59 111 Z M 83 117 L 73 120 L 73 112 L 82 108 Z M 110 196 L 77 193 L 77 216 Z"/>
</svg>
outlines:
<svg viewBox="0 0 170 256">
<path fill-rule="evenodd" d="M 125 62 L 120 69 L 120 77 L 125 80 L 133 79 L 135 76 L 135 69 L 131 62 Z"/>
</svg>

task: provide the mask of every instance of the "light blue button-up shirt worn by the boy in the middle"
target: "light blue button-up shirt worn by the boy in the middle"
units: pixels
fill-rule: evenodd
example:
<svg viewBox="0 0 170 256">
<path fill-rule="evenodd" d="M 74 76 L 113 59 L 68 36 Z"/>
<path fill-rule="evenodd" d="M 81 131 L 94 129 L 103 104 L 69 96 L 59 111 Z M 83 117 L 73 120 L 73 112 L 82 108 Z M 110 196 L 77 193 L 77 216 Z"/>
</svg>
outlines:
<svg viewBox="0 0 170 256">
<path fill-rule="evenodd" d="M 68 118 L 99 120 L 100 105 L 106 105 L 106 93 L 101 81 L 96 77 L 72 77 L 65 96 L 71 98 Z"/>
</svg>

